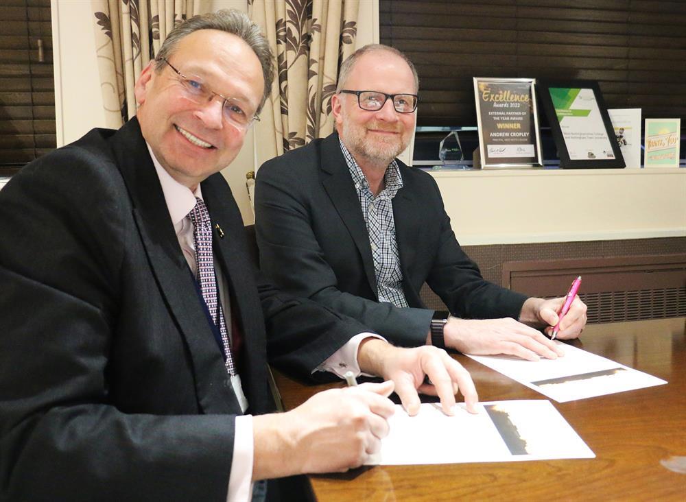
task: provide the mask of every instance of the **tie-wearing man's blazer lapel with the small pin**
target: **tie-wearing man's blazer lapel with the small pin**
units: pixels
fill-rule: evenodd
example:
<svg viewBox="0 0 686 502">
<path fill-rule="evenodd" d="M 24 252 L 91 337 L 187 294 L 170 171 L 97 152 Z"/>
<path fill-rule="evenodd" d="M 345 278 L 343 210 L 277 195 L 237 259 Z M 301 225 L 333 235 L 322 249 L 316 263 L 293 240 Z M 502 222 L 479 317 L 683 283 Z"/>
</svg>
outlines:
<svg viewBox="0 0 686 502">
<path fill-rule="evenodd" d="M 255 265 L 250 261 L 240 211 L 221 174 L 202 182 L 202 197 L 212 219 L 215 256 L 222 267 L 231 296 L 231 315 L 238 320 L 244 338 L 238 355 L 238 369 L 250 410 L 266 402 L 268 381 L 265 361 L 266 342 L 262 306 L 257 294 Z M 219 225 L 222 232 L 217 230 Z M 227 324 L 230 320 L 227 320 Z"/>
</svg>

